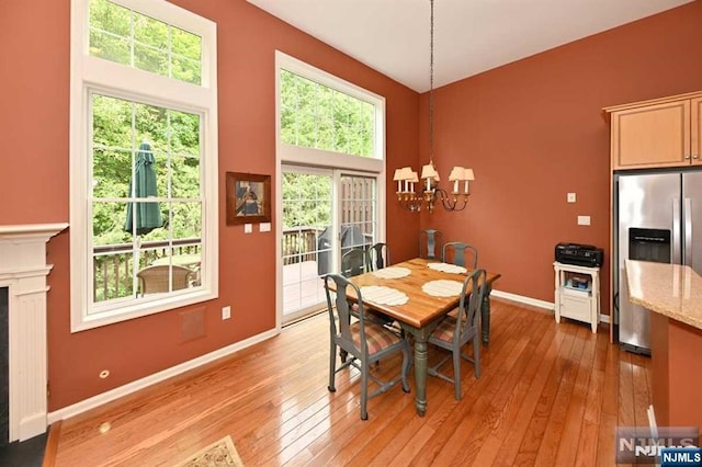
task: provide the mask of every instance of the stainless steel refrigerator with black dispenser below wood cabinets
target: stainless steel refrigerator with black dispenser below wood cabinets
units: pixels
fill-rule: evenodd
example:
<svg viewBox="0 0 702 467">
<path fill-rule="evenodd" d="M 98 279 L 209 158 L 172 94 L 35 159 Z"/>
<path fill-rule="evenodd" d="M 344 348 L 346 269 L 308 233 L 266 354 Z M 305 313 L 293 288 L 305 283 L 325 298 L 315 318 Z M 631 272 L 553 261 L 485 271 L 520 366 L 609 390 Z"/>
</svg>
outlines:
<svg viewBox="0 0 702 467">
<path fill-rule="evenodd" d="M 702 171 L 620 173 L 614 195 L 619 341 L 650 354 L 649 311 L 629 301 L 624 260 L 686 264 L 702 274 Z"/>
</svg>

